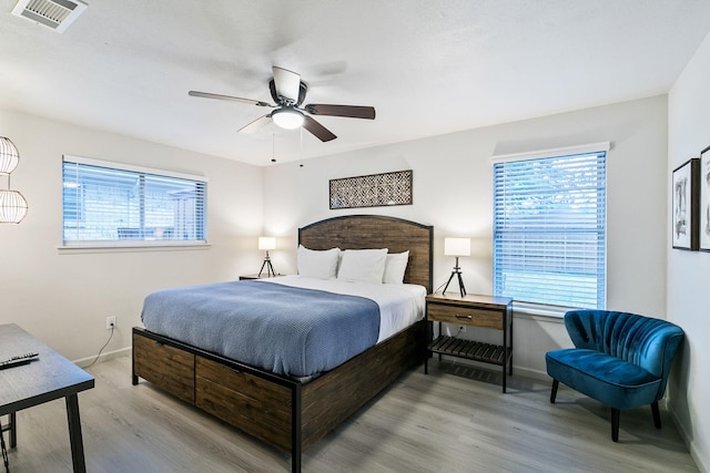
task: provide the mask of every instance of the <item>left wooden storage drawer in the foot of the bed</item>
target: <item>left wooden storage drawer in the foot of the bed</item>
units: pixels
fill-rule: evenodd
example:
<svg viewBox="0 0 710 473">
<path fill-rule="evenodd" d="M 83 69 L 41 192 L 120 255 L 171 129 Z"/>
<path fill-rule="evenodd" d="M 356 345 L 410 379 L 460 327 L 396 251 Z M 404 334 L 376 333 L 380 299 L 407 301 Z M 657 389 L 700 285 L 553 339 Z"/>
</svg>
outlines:
<svg viewBox="0 0 710 473">
<path fill-rule="evenodd" d="M 133 333 L 134 373 L 194 404 L 195 356 Z"/>
</svg>

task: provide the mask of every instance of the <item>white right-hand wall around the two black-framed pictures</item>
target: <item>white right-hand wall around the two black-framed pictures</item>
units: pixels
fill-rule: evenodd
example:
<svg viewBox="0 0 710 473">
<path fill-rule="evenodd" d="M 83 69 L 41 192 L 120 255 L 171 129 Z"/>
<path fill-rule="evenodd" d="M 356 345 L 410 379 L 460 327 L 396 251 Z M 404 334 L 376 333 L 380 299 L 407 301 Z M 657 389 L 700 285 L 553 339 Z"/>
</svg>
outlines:
<svg viewBox="0 0 710 473">
<path fill-rule="evenodd" d="M 669 94 L 667 175 L 710 146 L 710 35 L 696 52 Z M 670 183 L 670 179 L 667 181 Z M 670 202 L 670 185 L 668 197 Z M 670 226 L 670 213 L 667 215 Z M 690 452 L 710 471 L 710 253 L 668 249 L 668 319 L 686 332 L 670 383 L 670 405 Z"/>
</svg>

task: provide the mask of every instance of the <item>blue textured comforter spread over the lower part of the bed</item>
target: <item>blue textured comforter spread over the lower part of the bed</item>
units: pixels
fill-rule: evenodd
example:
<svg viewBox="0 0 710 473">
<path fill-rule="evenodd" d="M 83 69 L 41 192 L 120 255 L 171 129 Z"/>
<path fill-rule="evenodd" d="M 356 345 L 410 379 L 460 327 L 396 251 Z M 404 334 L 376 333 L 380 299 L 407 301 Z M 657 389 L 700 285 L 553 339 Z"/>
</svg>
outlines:
<svg viewBox="0 0 710 473">
<path fill-rule="evenodd" d="M 379 335 L 371 299 L 258 280 L 160 290 L 141 318 L 152 332 L 298 378 L 342 364 Z"/>
</svg>

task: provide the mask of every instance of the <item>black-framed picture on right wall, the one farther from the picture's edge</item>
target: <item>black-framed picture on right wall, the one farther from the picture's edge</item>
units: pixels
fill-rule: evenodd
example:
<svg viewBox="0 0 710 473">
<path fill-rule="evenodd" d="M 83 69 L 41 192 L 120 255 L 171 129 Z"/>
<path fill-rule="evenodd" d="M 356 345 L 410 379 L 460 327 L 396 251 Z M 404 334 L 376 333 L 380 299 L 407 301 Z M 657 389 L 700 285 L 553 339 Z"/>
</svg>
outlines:
<svg viewBox="0 0 710 473">
<path fill-rule="evenodd" d="M 673 171 L 671 232 L 673 248 L 677 249 L 699 248 L 699 174 L 700 158 L 697 157 L 688 160 Z"/>
</svg>

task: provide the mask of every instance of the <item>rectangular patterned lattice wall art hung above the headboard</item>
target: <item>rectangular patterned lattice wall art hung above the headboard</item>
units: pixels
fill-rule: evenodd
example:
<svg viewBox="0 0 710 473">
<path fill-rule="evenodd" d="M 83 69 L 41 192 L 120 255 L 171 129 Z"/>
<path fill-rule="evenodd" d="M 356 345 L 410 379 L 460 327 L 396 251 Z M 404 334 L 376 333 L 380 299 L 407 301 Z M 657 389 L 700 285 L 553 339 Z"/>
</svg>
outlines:
<svg viewBox="0 0 710 473">
<path fill-rule="evenodd" d="M 329 182 L 331 209 L 412 205 L 412 169 Z"/>
</svg>

